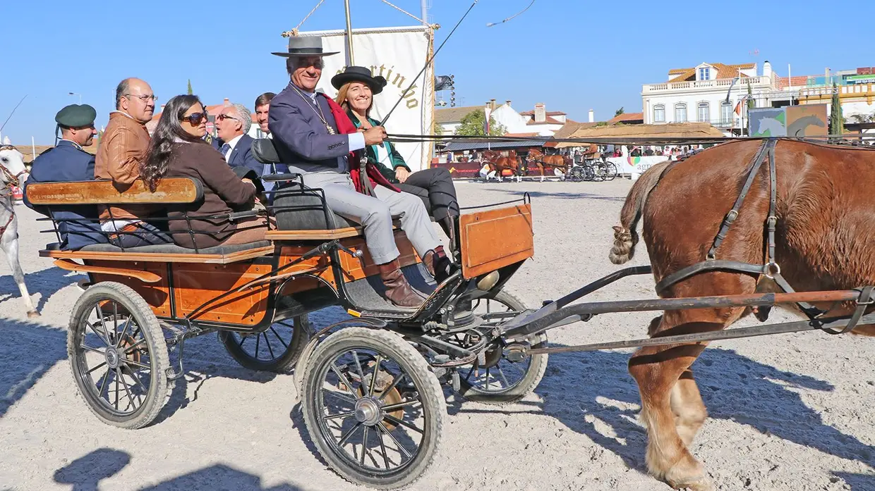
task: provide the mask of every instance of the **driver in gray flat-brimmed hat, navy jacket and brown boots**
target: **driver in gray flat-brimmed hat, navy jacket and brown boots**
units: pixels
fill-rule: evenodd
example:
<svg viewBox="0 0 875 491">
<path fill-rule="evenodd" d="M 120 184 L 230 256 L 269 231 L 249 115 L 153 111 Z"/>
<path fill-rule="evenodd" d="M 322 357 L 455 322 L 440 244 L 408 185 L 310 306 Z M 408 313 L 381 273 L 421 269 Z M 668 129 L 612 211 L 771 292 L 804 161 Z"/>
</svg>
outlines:
<svg viewBox="0 0 875 491">
<path fill-rule="evenodd" d="M 332 211 L 364 225 L 388 300 L 419 307 L 423 297 L 410 287 L 398 262 L 392 216 L 401 217 L 402 230 L 420 257 L 441 243 L 423 202 L 395 188 L 373 163 L 360 161 L 366 145 L 381 144 L 386 131 L 379 126 L 357 131 L 334 100 L 316 92 L 322 58 L 337 54 L 323 51 L 322 38 L 292 36 L 288 52 L 273 54 L 286 59 L 290 76 L 289 85 L 270 101 L 268 127 L 280 161 L 302 174 L 306 186 L 324 190 Z"/>
</svg>

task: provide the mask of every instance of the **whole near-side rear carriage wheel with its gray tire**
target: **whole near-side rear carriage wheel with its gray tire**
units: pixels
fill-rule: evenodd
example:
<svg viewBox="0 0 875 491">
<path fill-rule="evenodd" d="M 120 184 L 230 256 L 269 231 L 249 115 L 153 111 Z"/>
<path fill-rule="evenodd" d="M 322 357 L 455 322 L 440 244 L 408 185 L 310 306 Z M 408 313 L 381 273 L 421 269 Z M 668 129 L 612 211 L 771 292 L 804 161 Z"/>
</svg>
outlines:
<svg viewBox="0 0 875 491">
<path fill-rule="evenodd" d="M 105 281 L 76 301 L 67 331 L 73 379 L 108 425 L 150 424 L 165 404 L 170 358 L 158 319 L 130 287 Z"/>
</svg>

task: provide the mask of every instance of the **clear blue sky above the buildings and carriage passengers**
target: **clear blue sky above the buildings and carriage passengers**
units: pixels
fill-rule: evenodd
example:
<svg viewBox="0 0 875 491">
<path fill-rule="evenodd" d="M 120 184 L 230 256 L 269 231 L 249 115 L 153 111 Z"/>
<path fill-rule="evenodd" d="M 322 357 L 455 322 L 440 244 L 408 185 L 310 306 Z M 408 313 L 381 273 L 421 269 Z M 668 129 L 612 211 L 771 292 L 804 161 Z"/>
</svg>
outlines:
<svg viewBox="0 0 875 491">
<path fill-rule="evenodd" d="M 814 0 L 535 0 L 520 17 L 486 27 L 529 2 L 479 0 L 437 55 L 437 73 L 455 75 L 459 105 L 509 99 L 521 111 L 543 102 L 577 121 L 586 121 L 590 108 L 603 120 L 621 106 L 640 111 L 641 84 L 703 61 L 756 61 L 761 68 L 769 60 L 784 76 L 788 63 L 794 75 L 875 66 L 867 41 L 875 2 L 830 12 Z M 128 76 L 149 81 L 159 103 L 185 93 L 191 79 L 208 104 L 228 97 L 250 106 L 257 94 L 278 92 L 288 81 L 283 60 L 269 52 L 284 49 L 280 32 L 316 3 L 3 2 L 0 124 L 27 94 L 3 135 L 22 145 L 31 135 L 51 144 L 54 114 L 78 101 L 68 92 L 81 93 L 97 109 L 97 124 L 106 124 L 116 83 Z M 419 0 L 392 3 L 420 12 Z M 430 3 L 431 21 L 442 25 L 439 44 L 471 2 Z M 356 28 L 413 23 L 379 0 L 351 0 L 351 10 Z M 302 31 L 343 27 L 342 0 L 325 0 Z"/>
</svg>

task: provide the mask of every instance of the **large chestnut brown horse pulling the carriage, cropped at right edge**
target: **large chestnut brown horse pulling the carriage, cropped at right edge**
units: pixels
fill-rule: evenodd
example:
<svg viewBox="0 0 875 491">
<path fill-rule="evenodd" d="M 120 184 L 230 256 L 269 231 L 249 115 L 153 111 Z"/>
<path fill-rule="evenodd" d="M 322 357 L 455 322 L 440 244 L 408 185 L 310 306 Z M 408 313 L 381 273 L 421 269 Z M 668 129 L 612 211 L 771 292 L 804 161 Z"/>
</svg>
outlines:
<svg viewBox="0 0 875 491">
<path fill-rule="evenodd" d="M 612 262 L 632 259 L 641 218 L 656 281 L 704 261 L 759 148 L 760 142 L 729 142 L 673 166 L 660 163 L 645 171 L 629 191 L 621 225 L 614 227 Z M 774 257 L 784 278 L 796 291 L 875 285 L 875 151 L 784 140 L 774 156 Z M 764 164 L 716 259 L 764 264 L 770 195 Z M 662 296 L 751 294 L 774 288 L 767 281 L 757 274 L 711 271 L 677 282 Z M 827 315 L 845 315 L 853 306 L 816 305 L 829 310 Z M 653 337 L 719 330 L 751 311 L 666 311 L 650 322 L 648 333 Z M 853 332 L 872 335 L 875 329 L 861 325 Z M 675 488 L 713 489 L 704 467 L 690 453 L 690 443 L 706 418 L 690 365 L 706 344 L 646 347 L 629 360 L 629 372 L 641 393 L 641 421 L 648 431 L 648 470 Z"/>
</svg>

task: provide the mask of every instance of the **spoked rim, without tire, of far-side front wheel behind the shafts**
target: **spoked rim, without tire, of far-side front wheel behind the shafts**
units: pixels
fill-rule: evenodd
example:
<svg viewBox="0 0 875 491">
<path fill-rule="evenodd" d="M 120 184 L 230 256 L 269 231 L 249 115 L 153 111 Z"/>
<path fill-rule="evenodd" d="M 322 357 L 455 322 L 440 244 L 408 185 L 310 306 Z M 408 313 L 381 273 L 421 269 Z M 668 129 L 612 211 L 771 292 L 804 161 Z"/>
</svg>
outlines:
<svg viewBox="0 0 875 491">
<path fill-rule="evenodd" d="M 479 299 L 475 301 L 473 312 L 476 315 L 494 315 L 500 318 L 505 312 L 515 312 L 517 308 L 498 299 Z M 508 358 L 510 350 L 500 344 L 486 349 L 486 363 L 478 361 L 458 368 L 459 377 L 475 391 L 500 394 L 511 391 L 521 384 L 532 364 L 532 357 L 526 356 L 519 362 Z"/>
</svg>

